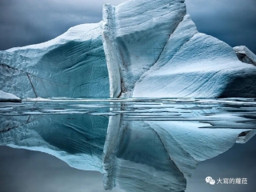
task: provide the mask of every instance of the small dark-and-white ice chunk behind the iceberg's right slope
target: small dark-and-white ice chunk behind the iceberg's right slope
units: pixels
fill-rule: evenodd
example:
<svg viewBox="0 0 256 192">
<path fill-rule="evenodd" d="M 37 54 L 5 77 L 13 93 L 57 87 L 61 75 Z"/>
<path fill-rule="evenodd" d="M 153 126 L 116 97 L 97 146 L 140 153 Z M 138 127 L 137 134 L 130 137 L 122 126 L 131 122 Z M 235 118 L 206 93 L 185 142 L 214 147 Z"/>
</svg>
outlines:
<svg viewBox="0 0 256 192">
<path fill-rule="evenodd" d="M 246 62 L 256 66 L 256 55 L 246 46 L 235 46 L 233 49 L 241 62 Z"/>
</svg>

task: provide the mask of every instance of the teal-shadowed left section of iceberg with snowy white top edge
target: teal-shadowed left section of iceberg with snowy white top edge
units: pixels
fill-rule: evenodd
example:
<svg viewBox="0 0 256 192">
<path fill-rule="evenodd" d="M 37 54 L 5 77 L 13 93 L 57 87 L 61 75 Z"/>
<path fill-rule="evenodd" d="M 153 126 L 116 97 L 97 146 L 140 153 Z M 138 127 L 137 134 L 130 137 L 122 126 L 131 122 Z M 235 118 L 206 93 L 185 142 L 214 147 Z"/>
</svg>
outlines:
<svg viewBox="0 0 256 192">
<path fill-rule="evenodd" d="M 21 98 L 109 97 L 102 23 L 38 45 L 0 51 L 0 90 Z"/>
</svg>

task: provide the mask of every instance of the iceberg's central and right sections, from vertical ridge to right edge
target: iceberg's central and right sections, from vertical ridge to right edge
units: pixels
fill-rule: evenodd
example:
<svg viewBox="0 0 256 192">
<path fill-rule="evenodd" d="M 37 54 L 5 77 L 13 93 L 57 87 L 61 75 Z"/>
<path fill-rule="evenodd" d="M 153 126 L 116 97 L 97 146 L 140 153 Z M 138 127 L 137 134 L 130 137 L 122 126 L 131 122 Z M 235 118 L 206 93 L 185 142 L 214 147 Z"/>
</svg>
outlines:
<svg viewBox="0 0 256 192">
<path fill-rule="evenodd" d="M 120 73 L 120 79 L 118 70 L 110 74 L 111 97 L 256 95 L 256 68 L 225 42 L 199 33 L 184 1 L 129 1 L 106 5 L 103 13 L 106 61 Z"/>
</svg>

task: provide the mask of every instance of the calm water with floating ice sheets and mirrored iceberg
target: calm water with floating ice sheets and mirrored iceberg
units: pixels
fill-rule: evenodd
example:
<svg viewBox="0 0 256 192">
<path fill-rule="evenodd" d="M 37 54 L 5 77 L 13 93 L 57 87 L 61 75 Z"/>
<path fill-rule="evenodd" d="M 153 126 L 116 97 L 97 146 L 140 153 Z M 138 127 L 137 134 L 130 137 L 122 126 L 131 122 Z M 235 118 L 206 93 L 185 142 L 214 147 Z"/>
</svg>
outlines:
<svg viewBox="0 0 256 192">
<path fill-rule="evenodd" d="M 33 191 L 41 182 L 37 191 L 255 191 L 255 128 L 254 98 L 1 103 L 0 189 Z M 6 166 L 18 162 L 17 172 L 48 173 L 55 182 L 49 176 L 22 182 L 20 172 L 10 177 L 14 170 Z M 215 183 L 206 183 L 208 176 Z"/>
</svg>

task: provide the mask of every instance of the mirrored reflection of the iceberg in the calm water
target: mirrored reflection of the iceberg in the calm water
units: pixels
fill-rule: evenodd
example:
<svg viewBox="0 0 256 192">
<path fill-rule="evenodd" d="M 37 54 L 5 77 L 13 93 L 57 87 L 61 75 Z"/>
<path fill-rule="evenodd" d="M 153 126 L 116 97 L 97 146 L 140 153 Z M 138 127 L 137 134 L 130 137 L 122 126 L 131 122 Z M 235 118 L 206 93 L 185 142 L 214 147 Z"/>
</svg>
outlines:
<svg viewBox="0 0 256 192">
<path fill-rule="evenodd" d="M 7 106 L 2 108 L 6 116 L 1 117 L 0 142 L 1 145 L 14 148 L 52 154 L 80 170 L 100 171 L 104 175 L 104 186 L 108 190 L 118 186 L 126 191 L 183 191 L 186 190 L 187 178 L 190 178 L 198 162 L 222 154 L 230 149 L 234 142 L 247 141 L 254 134 L 254 131 L 250 130 L 221 129 L 218 126 L 213 126 L 212 129 L 198 128 L 206 127 L 206 122 L 191 119 L 206 118 L 207 121 L 206 114 L 223 114 L 220 107 L 218 110 L 218 106 L 222 106 L 218 100 L 213 102 L 211 107 L 208 103 L 204 106 L 205 109 L 202 109 L 201 104 L 192 101 L 170 102 L 169 107 L 160 107 L 162 103 L 167 105 L 166 100 L 160 101 L 153 101 L 159 104 L 155 107 L 152 107 L 153 102 L 137 101 L 98 104 L 101 107 L 92 104 L 93 107 L 86 109 L 81 109 L 81 106 L 90 106 L 88 102 L 86 105 L 66 104 L 70 107 L 65 109 L 60 103 L 51 102 L 51 106 L 48 105 L 46 109 L 45 103 L 36 102 L 31 106 L 40 111 L 37 115 L 18 116 L 9 116 L 11 110 L 8 110 L 6 104 Z M 22 114 L 26 114 L 26 105 L 29 103 L 19 104 Z M 243 105 L 238 102 L 238 106 L 234 103 L 233 101 L 229 107 L 226 104 L 226 107 L 229 110 L 238 110 L 238 106 L 246 107 L 246 102 L 243 102 Z M 252 104 L 253 102 L 250 102 L 250 106 L 247 106 L 247 112 L 254 107 Z M 59 106 L 59 109 L 56 109 L 56 106 Z M 110 109 L 107 106 L 111 106 Z M 120 106 L 126 106 L 126 109 L 121 109 Z M 154 110 L 153 120 L 150 115 L 142 119 L 143 109 L 144 112 Z M 163 111 L 172 110 L 173 113 L 176 111 L 182 114 L 182 109 L 190 109 L 190 113 L 184 113 L 185 116 L 190 116 L 190 119 L 155 120 L 157 113 L 158 116 L 165 116 Z M 89 113 L 86 114 L 83 110 Z M 242 110 L 246 114 L 245 108 Z M 46 113 L 50 111 L 51 114 Z M 120 114 L 121 111 L 123 113 Z M 136 112 L 137 120 L 134 117 Z M 227 114 L 229 117 L 238 117 L 235 112 L 226 112 Z M 129 116 L 133 117 L 133 120 L 127 118 Z M 253 121 L 248 124 L 252 118 L 244 120 L 247 125 L 255 125 Z M 226 118 L 226 121 L 230 123 L 230 127 L 226 128 L 241 123 L 234 122 L 232 118 Z M 9 125 L 8 129 L 6 125 Z"/>
</svg>

